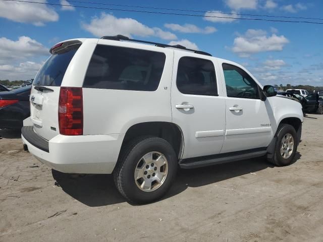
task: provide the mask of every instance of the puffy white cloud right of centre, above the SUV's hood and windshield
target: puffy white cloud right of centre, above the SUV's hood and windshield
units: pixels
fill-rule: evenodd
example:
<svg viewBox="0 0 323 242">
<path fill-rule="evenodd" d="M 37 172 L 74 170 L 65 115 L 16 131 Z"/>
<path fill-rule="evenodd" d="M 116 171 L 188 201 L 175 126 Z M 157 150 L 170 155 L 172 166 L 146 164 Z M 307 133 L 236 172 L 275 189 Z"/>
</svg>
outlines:
<svg viewBox="0 0 323 242">
<path fill-rule="evenodd" d="M 234 39 L 232 51 L 240 57 L 249 57 L 258 52 L 281 51 L 287 43 L 289 40 L 284 35 L 267 35 L 261 29 L 248 29 L 244 35 Z"/>
</svg>

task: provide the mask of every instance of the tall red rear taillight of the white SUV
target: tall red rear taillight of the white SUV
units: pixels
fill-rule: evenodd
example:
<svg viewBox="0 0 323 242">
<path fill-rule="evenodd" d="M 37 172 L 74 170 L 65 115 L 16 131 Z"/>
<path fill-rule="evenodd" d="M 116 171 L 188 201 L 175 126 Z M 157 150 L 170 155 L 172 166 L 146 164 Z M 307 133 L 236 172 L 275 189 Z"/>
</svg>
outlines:
<svg viewBox="0 0 323 242">
<path fill-rule="evenodd" d="M 83 98 L 81 87 L 61 87 L 59 127 L 62 135 L 83 135 Z"/>
</svg>

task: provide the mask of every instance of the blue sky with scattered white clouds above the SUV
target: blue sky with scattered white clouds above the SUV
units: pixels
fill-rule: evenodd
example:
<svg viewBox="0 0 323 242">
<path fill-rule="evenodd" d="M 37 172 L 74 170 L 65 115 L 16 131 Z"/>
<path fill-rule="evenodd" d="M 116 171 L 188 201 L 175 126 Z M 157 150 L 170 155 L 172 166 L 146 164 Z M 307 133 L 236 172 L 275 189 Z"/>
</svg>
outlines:
<svg viewBox="0 0 323 242">
<path fill-rule="evenodd" d="M 122 34 L 169 44 L 181 44 L 247 68 L 263 85 L 323 86 L 323 24 L 237 20 L 241 14 L 320 18 L 321 0 L 89 1 L 201 12 L 90 5 L 72 0 L 0 0 L 0 80 L 34 78 L 49 56 L 49 48 L 71 38 Z M 185 4 L 183 4 L 185 3 Z M 92 6 L 109 9 L 76 8 Z M 159 15 L 111 9 L 173 12 L 200 16 Z M 231 15 L 214 12 L 231 13 Z M 262 18 L 262 17 L 256 17 Z M 280 19 L 297 20 L 297 19 Z"/>
</svg>

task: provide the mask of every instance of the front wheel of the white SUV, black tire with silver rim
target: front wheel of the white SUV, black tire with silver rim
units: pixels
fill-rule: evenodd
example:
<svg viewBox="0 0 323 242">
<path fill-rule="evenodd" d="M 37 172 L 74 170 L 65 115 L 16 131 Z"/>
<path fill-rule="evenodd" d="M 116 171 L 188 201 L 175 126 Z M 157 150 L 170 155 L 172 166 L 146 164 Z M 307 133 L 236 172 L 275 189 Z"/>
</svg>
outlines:
<svg viewBox="0 0 323 242">
<path fill-rule="evenodd" d="M 286 148 L 284 148 L 284 147 L 282 147 L 283 139 L 288 138 L 289 135 L 292 136 L 292 138 L 293 138 L 293 146 L 292 147 L 286 146 L 288 144 L 287 143 L 287 144 L 285 144 Z M 289 165 L 293 161 L 295 154 L 296 154 L 297 145 L 298 145 L 297 133 L 296 133 L 293 126 L 287 125 L 287 124 L 282 124 L 278 127 L 278 130 L 276 132 L 276 137 L 277 137 L 277 142 L 275 145 L 274 155 L 272 158 L 268 159 L 268 161 L 270 161 L 271 163 L 273 163 L 276 166 Z M 292 148 L 292 149 L 290 149 L 290 148 Z M 283 152 L 286 151 L 288 153 L 283 153 L 283 155 L 282 155 L 281 149 L 283 149 Z"/>
</svg>

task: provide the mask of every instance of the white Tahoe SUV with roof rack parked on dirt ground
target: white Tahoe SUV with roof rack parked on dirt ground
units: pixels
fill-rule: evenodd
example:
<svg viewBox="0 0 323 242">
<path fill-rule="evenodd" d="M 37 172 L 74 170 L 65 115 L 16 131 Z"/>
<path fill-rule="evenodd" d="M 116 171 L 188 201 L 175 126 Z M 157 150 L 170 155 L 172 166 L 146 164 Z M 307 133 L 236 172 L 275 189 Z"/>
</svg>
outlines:
<svg viewBox="0 0 323 242">
<path fill-rule="evenodd" d="M 113 173 L 125 198 L 146 203 L 165 195 L 178 166 L 294 158 L 300 103 L 234 62 L 119 35 L 67 40 L 50 53 L 22 140 L 53 169 Z"/>
</svg>

